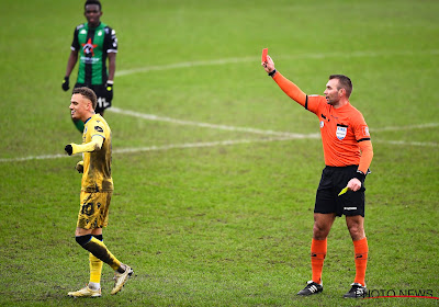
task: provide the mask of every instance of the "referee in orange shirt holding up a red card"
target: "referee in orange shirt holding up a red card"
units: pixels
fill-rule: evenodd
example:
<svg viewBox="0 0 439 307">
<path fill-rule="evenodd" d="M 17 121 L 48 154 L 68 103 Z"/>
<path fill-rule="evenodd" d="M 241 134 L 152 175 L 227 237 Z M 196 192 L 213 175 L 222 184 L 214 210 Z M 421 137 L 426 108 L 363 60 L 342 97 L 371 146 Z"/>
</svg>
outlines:
<svg viewBox="0 0 439 307">
<path fill-rule="evenodd" d="M 312 280 L 297 295 L 323 292 L 322 271 L 327 251 L 327 237 L 336 216 L 346 216 L 353 242 L 356 277 L 344 297 L 364 297 L 368 263 L 368 239 L 364 234 L 364 179 L 373 157 L 369 127 L 349 96 L 351 80 L 333 75 L 326 83 L 324 96 L 307 95 L 274 68 L 270 56 L 262 67 L 291 99 L 317 115 L 320 122 L 325 169 L 316 193 L 313 239 L 311 243 Z M 338 196 L 340 191 L 348 192 Z"/>
</svg>

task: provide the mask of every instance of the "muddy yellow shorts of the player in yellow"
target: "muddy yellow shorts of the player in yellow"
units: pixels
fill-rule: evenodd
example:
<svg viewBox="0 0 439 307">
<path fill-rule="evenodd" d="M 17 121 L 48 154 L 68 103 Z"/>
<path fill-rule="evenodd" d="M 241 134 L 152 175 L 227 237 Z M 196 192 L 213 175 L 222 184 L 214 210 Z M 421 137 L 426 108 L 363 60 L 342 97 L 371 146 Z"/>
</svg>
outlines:
<svg viewBox="0 0 439 307">
<path fill-rule="evenodd" d="M 77 227 L 94 229 L 109 224 L 110 201 L 113 192 L 81 191 Z"/>
</svg>

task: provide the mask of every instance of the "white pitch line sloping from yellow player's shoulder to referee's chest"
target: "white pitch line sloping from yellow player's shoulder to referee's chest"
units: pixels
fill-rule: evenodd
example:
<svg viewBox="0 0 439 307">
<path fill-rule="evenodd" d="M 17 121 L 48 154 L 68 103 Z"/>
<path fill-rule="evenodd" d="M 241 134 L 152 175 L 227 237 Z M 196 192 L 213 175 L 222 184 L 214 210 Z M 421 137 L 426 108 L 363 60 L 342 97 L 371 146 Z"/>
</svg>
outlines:
<svg viewBox="0 0 439 307">
<path fill-rule="evenodd" d="M 288 136 L 288 137 L 293 137 L 293 138 L 319 138 L 320 137 L 320 134 L 294 134 L 294 133 L 285 133 L 285 132 L 262 130 L 262 129 L 249 128 L 249 127 L 236 127 L 236 126 L 183 121 L 183 120 L 177 120 L 177 118 L 171 118 L 171 117 L 167 117 L 167 116 L 158 116 L 158 115 L 154 115 L 154 114 L 145 114 L 145 113 L 139 113 L 139 112 L 134 112 L 134 111 L 130 111 L 130 110 L 122 110 L 122 109 L 113 107 L 113 106 L 108 109 L 106 111 L 117 113 L 117 114 L 128 115 L 128 116 L 133 116 L 133 117 L 138 117 L 138 118 L 143 118 L 143 120 L 147 120 L 147 121 L 167 122 L 167 123 L 172 123 L 172 124 L 178 124 L 178 125 L 213 128 L 213 129 L 221 129 L 221 130 L 243 132 L 243 133 L 251 133 L 251 134 L 260 134 L 260 135 Z"/>
</svg>

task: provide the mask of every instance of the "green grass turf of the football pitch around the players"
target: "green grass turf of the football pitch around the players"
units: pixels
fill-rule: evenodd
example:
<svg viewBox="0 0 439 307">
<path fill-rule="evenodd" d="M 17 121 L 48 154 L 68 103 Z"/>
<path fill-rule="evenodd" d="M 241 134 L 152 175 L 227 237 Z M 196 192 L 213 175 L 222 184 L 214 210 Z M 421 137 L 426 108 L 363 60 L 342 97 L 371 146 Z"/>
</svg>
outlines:
<svg viewBox="0 0 439 307">
<path fill-rule="evenodd" d="M 104 238 L 135 277 L 110 296 L 104 266 L 102 298 L 67 297 L 88 282 L 88 255 L 74 236 L 80 158 L 14 159 L 52 157 L 80 141 L 60 84 L 82 1 L 1 3 L 0 306 L 438 305 L 342 299 L 354 275 L 344 219 L 329 235 L 324 293 L 295 296 L 311 278 L 319 139 L 270 141 L 110 111 L 115 191 Z M 277 68 L 309 94 L 323 93 L 329 75 L 348 75 L 374 146 L 368 286 L 439 297 L 438 10 L 426 0 L 105 0 L 102 21 L 120 42 L 113 105 L 318 134 L 315 115 L 266 76 L 260 52 L 269 47 Z M 229 140 L 241 143 L 183 148 Z M 127 148 L 137 150 L 119 154 Z"/>
</svg>

